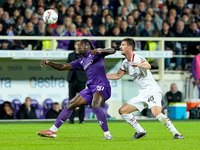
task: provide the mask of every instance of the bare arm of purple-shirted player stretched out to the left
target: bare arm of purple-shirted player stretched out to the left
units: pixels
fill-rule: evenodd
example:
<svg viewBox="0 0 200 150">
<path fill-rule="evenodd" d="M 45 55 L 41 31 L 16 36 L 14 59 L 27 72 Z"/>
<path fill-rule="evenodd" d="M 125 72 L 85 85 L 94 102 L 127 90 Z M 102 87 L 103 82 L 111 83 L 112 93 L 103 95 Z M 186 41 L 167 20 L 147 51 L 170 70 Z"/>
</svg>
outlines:
<svg viewBox="0 0 200 150">
<path fill-rule="evenodd" d="M 51 61 L 48 61 L 48 60 L 45 60 L 45 59 L 41 60 L 40 65 L 41 65 L 41 67 L 43 67 L 45 65 L 49 65 L 52 68 L 54 68 L 56 70 L 60 70 L 60 71 L 72 69 L 71 64 L 60 64 L 60 63 L 51 62 Z"/>
</svg>

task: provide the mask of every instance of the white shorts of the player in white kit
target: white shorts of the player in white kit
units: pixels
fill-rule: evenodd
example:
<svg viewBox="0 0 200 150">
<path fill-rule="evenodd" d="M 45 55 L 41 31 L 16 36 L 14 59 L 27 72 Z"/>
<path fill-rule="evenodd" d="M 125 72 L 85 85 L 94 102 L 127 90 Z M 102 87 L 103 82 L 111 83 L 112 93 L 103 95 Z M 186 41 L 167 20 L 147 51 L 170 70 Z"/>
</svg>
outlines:
<svg viewBox="0 0 200 150">
<path fill-rule="evenodd" d="M 162 93 L 153 92 L 149 95 L 139 93 L 137 97 L 130 99 L 127 103 L 135 106 L 140 112 L 148 106 L 151 108 L 153 106 L 161 107 Z"/>
</svg>

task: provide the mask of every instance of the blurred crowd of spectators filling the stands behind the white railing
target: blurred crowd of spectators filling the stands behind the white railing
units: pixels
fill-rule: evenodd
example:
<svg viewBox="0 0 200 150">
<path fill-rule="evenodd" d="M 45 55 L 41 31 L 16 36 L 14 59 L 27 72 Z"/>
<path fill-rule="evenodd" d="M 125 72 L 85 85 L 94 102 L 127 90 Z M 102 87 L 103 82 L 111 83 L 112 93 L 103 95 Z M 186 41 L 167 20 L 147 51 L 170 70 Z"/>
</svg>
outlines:
<svg viewBox="0 0 200 150">
<path fill-rule="evenodd" d="M 56 24 L 47 25 L 45 10 L 59 14 Z M 8 36 L 131 36 L 199 37 L 200 0 L 1 0 L 0 35 Z M 112 41 L 119 49 L 121 41 Z M 0 40 L 0 49 L 51 50 L 51 41 Z M 105 47 L 105 41 L 93 41 Z M 74 41 L 58 40 L 57 49 L 72 50 Z M 157 50 L 156 41 L 137 42 L 136 50 Z M 165 50 L 177 55 L 197 54 L 199 42 L 166 42 Z M 176 69 L 187 67 L 177 58 Z M 166 59 L 170 68 L 171 59 Z"/>
</svg>

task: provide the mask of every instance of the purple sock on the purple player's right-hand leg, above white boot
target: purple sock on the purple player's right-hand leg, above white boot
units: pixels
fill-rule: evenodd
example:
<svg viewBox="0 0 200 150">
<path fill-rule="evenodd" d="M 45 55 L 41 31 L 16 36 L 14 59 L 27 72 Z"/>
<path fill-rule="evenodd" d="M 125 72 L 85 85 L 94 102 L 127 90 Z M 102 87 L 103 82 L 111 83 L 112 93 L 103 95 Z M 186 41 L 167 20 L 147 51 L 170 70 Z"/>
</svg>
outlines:
<svg viewBox="0 0 200 150">
<path fill-rule="evenodd" d="M 104 132 L 108 131 L 107 119 L 106 119 L 106 115 L 103 112 L 103 110 L 101 108 L 95 108 L 94 113 L 97 116 L 97 119 L 99 121 L 99 125 L 101 126 L 102 130 Z"/>
</svg>

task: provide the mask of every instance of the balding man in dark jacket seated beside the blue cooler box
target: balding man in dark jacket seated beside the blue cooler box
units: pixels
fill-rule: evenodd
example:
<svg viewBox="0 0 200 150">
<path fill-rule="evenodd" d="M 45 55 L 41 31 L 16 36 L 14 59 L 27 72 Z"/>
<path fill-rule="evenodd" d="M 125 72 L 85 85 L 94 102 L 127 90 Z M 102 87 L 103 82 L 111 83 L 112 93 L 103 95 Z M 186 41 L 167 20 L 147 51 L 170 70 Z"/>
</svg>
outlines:
<svg viewBox="0 0 200 150">
<path fill-rule="evenodd" d="M 163 99 L 163 111 L 169 111 L 169 103 L 183 102 L 183 93 L 178 91 L 177 85 L 175 83 L 171 84 L 170 91 L 164 95 Z"/>
</svg>

